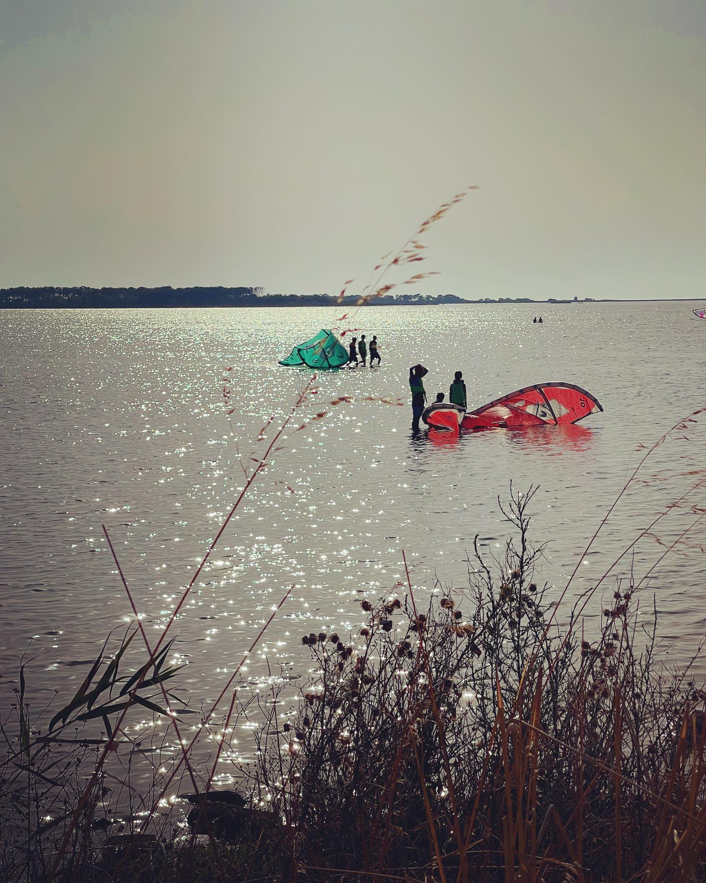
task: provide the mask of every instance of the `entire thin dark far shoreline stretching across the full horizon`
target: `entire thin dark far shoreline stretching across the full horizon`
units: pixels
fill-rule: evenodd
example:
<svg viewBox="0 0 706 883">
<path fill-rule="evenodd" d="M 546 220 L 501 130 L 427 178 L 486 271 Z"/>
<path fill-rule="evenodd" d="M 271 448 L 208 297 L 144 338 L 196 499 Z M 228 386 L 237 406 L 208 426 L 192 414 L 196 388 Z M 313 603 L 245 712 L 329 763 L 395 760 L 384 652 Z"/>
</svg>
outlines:
<svg viewBox="0 0 706 883">
<path fill-rule="evenodd" d="M 328 294 L 267 294 L 261 288 L 87 288 L 85 286 L 46 286 L 0 289 L 0 309 L 203 309 L 206 307 L 251 308 L 263 306 L 331 306 L 338 309 L 358 306 L 357 296 L 339 301 Z M 558 306 L 574 304 L 655 304 L 706 302 L 702 298 L 478 298 L 469 300 L 454 294 L 405 294 L 374 298 L 362 306 Z"/>
</svg>

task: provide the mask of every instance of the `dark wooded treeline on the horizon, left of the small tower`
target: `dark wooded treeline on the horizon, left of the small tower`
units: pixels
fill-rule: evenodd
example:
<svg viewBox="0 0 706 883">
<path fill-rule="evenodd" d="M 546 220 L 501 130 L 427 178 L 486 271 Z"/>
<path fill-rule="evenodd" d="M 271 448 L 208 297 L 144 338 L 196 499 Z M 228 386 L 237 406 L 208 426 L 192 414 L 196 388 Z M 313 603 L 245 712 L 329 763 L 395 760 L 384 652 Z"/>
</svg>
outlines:
<svg viewBox="0 0 706 883">
<path fill-rule="evenodd" d="M 343 299 L 352 305 L 357 297 Z M 335 306 L 338 298 L 329 294 L 266 294 L 261 288 L 88 288 L 75 287 L 5 288 L 0 289 L 0 308 L 31 307 L 159 307 L 159 306 Z M 406 294 L 396 298 L 387 295 L 372 300 L 374 305 L 465 304 L 468 301 L 454 294 L 437 296 Z"/>
</svg>

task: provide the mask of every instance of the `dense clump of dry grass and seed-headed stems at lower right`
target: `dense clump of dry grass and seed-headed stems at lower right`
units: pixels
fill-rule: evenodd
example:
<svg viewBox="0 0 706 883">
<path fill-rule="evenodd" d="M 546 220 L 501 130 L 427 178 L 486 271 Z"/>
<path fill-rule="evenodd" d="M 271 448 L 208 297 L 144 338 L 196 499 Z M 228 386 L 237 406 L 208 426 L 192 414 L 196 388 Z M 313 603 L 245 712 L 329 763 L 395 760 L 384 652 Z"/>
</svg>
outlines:
<svg viewBox="0 0 706 883">
<path fill-rule="evenodd" d="M 547 630 L 530 498 L 468 588 L 417 615 L 401 586 L 358 634 L 306 637 L 317 675 L 270 715 L 251 787 L 308 875 L 700 879 L 704 693 L 656 663 L 654 631 L 635 649 L 634 585 L 594 640 Z"/>
</svg>

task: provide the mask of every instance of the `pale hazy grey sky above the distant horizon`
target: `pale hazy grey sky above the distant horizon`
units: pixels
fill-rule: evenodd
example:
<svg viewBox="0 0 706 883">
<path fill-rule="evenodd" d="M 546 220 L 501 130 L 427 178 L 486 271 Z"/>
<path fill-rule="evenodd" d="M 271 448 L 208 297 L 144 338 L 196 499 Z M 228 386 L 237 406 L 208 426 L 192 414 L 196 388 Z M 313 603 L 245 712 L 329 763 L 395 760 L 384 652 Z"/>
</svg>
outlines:
<svg viewBox="0 0 706 883">
<path fill-rule="evenodd" d="M 0 158 L 0 287 L 700 297 L 706 0 L 0 0 Z"/>
</svg>

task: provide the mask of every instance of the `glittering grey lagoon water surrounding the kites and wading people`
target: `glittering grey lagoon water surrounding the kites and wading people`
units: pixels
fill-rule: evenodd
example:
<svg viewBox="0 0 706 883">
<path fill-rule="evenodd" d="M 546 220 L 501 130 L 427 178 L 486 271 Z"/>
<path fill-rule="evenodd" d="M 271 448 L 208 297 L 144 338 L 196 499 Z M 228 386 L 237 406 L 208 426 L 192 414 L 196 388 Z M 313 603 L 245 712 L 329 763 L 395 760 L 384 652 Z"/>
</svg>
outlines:
<svg viewBox="0 0 706 883">
<path fill-rule="evenodd" d="M 435 577 L 458 584 L 475 534 L 486 551 L 502 551 L 507 525 L 497 498 L 510 480 L 519 489 L 539 486 L 533 535 L 548 544 L 540 577 L 558 594 L 637 464 L 637 445 L 706 404 L 706 322 L 693 306 L 543 305 L 542 326 L 532 324 L 538 306 L 361 311 L 357 325 L 378 335 L 382 365 L 319 378 L 301 416 L 327 417 L 288 433 L 224 533 L 173 630 L 175 651 L 189 663 L 181 694 L 196 706 L 213 700 L 290 585 L 244 680 L 257 680 L 267 664 L 304 674 L 301 636 L 361 623 L 361 592 L 378 596 L 402 577 L 402 549 L 420 595 Z M 260 428 L 272 415 L 277 425 L 309 377 L 277 359 L 335 324 L 335 315 L 319 308 L 3 313 L 5 691 L 30 642 L 34 701 L 74 690 L 84 669 L 72 663 L 92 659 L 106 633 L 131 619 L 103 523 L 157 636 L 243 486 L 243 467 L 263 449 Z M 414 438 L 407 374 L 419 361 L 430 369 L 430 398 L 461 369 L 472 404 L 530 383 L 570 381 L 595 394 L 605 413 L 564 432 L 497 431 L 445 444 Z M 229 417 L 222 377 L 230 366 Z M 328 405 L 342 395 L 354 401 Z M 403 407 L 375 401 L 398 396 Z M 646 483 L 620 502 L 582 561 L 572 598 L 700 478 L 700 426 L 657 450 Z M 688 502 L 702 505 L 706 494 Z M 657 539 L 672 540 L 695 517 L 672 510 Z M 643 540 L 616 575 L 630 567 L 645 573 L 664 552 L 657 539 Z M 641 590 L 643 621 L 651 622 L 655 596 L 662 652 L 675 663 L 705 631 L 702 545 L 699 524 Z M 586 609 L 586 628 L 614 585 L 612 576 Z"/>
</svg>

